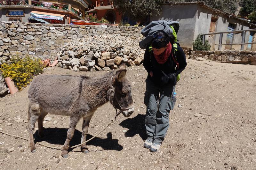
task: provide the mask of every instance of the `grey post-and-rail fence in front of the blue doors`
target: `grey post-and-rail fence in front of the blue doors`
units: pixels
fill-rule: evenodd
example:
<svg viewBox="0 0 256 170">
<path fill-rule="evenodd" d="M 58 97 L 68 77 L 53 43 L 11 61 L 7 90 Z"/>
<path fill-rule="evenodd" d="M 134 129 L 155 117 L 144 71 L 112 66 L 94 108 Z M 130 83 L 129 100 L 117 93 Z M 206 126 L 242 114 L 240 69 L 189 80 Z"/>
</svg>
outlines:
<svg viewBox="0 0 256 170">
<path fill-rule="evenodd" d="M 248 42 L 245 43 L 245 32 L 252 32 L 256 31 L 256 29 L 248 29 L 248 30 L 237 30 L 237 31 L 227 31 L 227 32 L 218 32 L 218 33 L 207 33 L 207 34 L 202 34 L 203 36 L 203 44 L 205 42 L 205 36 L 206 35 L 215 35 L 215 34 L 220 34 L 220 39 L 219 39 L 219 44 L 214 44 L 219 46 L 218 50 L 221 50 L 222 45 L 241 45 L 241 51 L 244 50 L 244 45 L 246 44 L 256 44 L 256 42 Z M 224 33 L 242 33 L 242 42 L 241 43 L 229 43 L 229 44 L 222 44 L 222 38 Z M 234 36 L 232 36 L 232 41 L 233 42 Z"/>
</svg>

